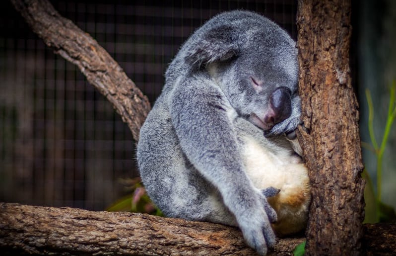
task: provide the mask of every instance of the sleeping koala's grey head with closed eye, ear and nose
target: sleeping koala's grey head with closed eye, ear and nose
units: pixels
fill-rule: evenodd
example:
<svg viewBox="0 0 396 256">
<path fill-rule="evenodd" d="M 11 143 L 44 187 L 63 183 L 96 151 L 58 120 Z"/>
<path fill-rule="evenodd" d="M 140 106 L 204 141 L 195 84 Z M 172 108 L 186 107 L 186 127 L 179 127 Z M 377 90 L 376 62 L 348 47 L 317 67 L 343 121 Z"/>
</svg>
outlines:
<svg viewBox="0 0 396 256">
<path fill-rule="evenodd" d="M 232 11 L 207 22 L 186 51 L 206 69 L 239 115 L 264 131 L 292 118 L 298 100 L 295 42 L 261 15 Z"/>
</svg>

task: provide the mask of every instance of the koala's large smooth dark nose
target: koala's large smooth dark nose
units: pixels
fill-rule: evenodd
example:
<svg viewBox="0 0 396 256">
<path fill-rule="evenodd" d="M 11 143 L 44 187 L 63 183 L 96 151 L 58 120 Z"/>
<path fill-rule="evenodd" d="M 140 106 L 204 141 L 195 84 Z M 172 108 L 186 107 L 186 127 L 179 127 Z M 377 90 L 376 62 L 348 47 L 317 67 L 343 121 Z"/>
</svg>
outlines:
<svg viewBox="0 0 396 256">
<path fill-rule="evenodd" d="M 290 89 L 287 87 L 275 89 L 271 94 L 270 104 L 273 110 L 273 124 L 280 123 L 288 118 L 291 115 Z"/>
</svg>

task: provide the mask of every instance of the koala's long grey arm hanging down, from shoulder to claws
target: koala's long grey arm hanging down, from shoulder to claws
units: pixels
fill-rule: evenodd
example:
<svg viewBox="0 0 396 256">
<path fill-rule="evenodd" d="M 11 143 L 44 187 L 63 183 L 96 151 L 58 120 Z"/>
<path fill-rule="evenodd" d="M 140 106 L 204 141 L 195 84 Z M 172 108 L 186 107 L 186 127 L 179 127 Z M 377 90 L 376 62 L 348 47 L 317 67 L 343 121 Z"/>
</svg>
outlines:
<svg viewBox="0 0 396 256">
<path fill-rule="evenodd" d="M 179 143 L 189 161 L 221 193 L 248 244 L 258 252 L 275 244 L 276 213 L 245 171 L 232 128 L 235 112 L 205 75 L 191 76 L 172 91 L 169 106 Z"/>
</svg>

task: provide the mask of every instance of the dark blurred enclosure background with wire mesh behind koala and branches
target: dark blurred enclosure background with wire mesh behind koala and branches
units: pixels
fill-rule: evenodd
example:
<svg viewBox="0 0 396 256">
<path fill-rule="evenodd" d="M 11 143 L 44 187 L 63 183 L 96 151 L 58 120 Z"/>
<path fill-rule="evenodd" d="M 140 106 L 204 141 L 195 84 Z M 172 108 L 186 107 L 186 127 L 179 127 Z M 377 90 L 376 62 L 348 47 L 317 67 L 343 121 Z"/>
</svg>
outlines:
<svg viewBox="0 0 396 256">
<path fill-rule="evenodd" d="M 61 15 L 94 37 L 151 104 L 180 45 L 213 15 L 254 10 L 296 39 L 297 1 L 51 1 Z M 396 2 L 353 1 L 351 67 L 368 135 L 365 89 L 375 107 L 381 142 L 396 78 Z M 0 7 L 0 201 L 103 210 L 138 176 L 135 142 L 120 116 L 85 77 L 46 47 L 8 1 Z M 384 155 L 383 200 L 396 206 L 396 128 Z M 364 150 L 374 173 L 376 158 Z"/>
</svg>

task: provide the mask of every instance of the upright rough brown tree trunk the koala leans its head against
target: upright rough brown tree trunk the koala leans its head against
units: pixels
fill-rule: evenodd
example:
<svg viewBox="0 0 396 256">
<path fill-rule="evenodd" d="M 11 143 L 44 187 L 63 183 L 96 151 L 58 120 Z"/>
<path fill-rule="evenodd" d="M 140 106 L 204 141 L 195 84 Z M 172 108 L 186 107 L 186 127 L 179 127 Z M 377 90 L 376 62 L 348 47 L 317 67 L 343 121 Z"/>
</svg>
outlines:
<svg viewBox="0 0 396 256">
<path fill-rule="evenodd" d="M 359 255 L 364 218 L 348 0 L 299 0 L 302 143 L 311 180 L 307 255 Z"/>
</svg>

